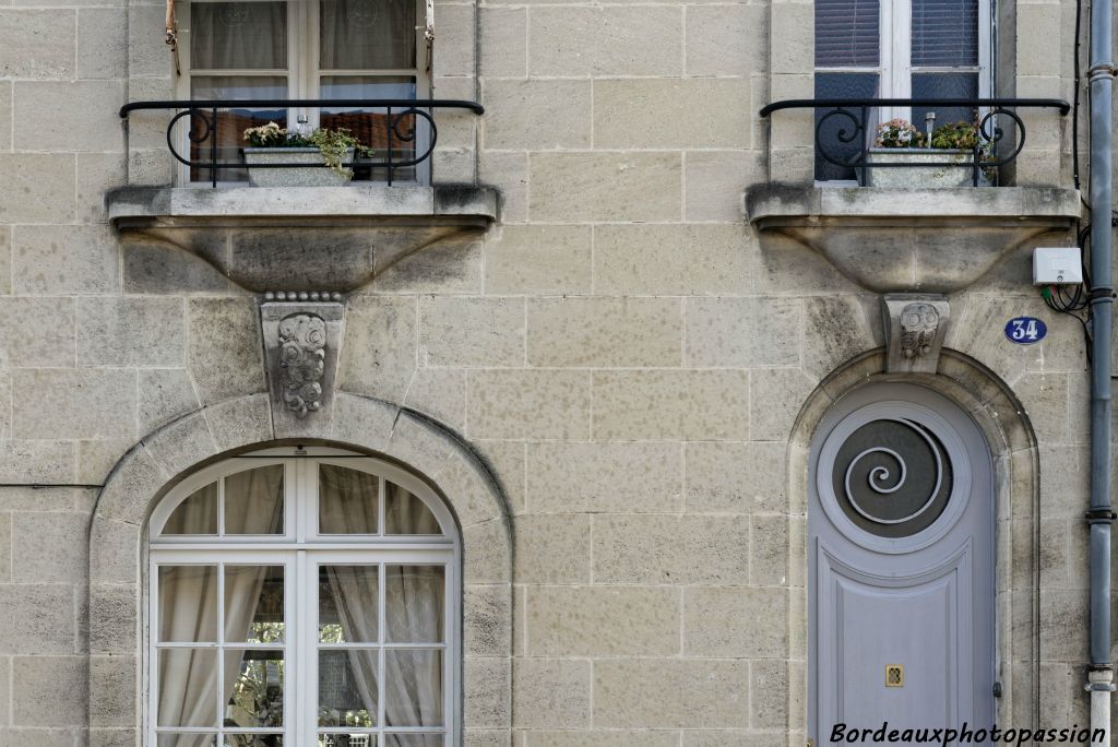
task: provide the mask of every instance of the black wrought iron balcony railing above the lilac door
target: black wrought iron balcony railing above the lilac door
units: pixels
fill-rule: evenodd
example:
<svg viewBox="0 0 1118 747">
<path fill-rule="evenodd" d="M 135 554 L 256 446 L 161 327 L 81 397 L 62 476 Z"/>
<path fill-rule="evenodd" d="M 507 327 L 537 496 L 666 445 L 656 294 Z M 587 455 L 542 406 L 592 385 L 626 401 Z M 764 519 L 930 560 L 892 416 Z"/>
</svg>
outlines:
<svg viewBox="0 0 1118 747">
<path fill-rule="evenodd" d="M 794 108 L 815 111 L 817 179 L 821 178 L 821 164 L 831 164 L 822 169 L 828 173 L 824 179 L 834 179 L 835 173 L 850 174 L 862 186 L 868 183 L 874 169 L 969 169 L 972 183 L 978 186 L 984 173 L 996 173 L 1024 148 L 1025 123 L 1016 110 L 1052 108 L 1059 111 L 1060 116 L 1067 116 L 1071 104 L 1059 98 L 794 98 L 773 102 L 761 108 L 760 115 L 768 117 L 774 112 Z M 893 150 L 891 157 L 890 149 L 874 146 L 877 126 L 884 119 L 880 114 L 882 108 L 964 110 L 970 113 L 975 123 L 973 144 L 950 150 L 925 148 L 928 157 L 919 160 L 906 160 L 898 150 Z M 912 122 L 920 131 L 922 124 Z M 1012 131 L 1006 130 L 1006 124 L 1013 127 Z M 928 135 L 930 141 L 930 133 Z M 906 150 L 906 153 L 912 152 Z M 941 159 L 931 158 L 940 153 Z"/>
</svg>

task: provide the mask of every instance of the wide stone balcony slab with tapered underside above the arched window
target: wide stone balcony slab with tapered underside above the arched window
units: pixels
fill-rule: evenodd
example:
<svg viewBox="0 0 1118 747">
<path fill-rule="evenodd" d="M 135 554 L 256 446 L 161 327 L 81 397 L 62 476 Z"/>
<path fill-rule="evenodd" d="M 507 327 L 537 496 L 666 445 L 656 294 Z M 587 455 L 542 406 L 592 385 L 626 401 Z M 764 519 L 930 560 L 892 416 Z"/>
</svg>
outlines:
<svg viewBox="0 0 1118 747">
<path fill-rule="evenodd" d="M 498 215 L 496 190 L 475 186 L 125 187 L 105 202 L 125 250 L 130 236 L 167 242 L 257 293 L 345 293 Z"/>
</svg>

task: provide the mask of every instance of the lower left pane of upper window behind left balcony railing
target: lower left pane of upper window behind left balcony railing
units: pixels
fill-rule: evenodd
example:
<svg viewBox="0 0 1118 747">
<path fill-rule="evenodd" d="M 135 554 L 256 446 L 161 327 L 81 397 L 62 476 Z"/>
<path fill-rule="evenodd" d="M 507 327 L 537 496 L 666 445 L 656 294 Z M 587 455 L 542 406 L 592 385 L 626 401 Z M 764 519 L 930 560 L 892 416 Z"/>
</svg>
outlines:
<svg viewBox="0 0 1118 747">
<path fill-rule="evenodd" d="M 287 97 L 287 78 L 280 76 L 195 76 L 190 79 L 191 98 L 207 101 L 267 100 Z M 210 116 L 206 112 L 206 116 Z M 275 122 L 281 127 L 287 126 L 287 110 L 272 108 L 237 108 L 218 110 L 216 132 L 206 135 L 206 124 L 201 116 L 186 117 L 190 123 L 192 136 L 201 140 L 190 145 L 190 160 L 193 162 L 210 161 L 212 138 L 217 139 L 217 160 L 219 162 L 238 162 L 240 149 L 245 146 L 245 130 L 258 127 L 268 122 Z M 220 169 L 219 181 L 245 181 L 248 172 L 244 169 Z M 210 169 L 196 167 L 190 171 L 192 180 L 209 180 Z"/>
</svg>

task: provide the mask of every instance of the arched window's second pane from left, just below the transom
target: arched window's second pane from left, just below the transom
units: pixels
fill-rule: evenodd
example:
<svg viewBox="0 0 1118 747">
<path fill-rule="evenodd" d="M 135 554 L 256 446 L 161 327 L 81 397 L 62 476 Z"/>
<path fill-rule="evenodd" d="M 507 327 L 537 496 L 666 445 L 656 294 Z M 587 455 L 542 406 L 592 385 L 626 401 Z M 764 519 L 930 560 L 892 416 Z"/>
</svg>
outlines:
<svg viewBox="0 0 1118 747">
<path fill-rule="evenodd" d="M 283 643 L 283 566 L 225 567 L 225 640 Z"/>
</svg>

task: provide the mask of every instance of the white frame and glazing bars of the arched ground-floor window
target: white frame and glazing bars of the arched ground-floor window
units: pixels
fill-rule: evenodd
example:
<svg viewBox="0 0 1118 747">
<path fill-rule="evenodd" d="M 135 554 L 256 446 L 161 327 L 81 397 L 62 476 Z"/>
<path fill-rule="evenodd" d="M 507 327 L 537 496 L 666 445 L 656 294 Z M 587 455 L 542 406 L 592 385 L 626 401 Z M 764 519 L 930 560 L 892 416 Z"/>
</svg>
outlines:
<svg viewBox="0 0 1118 747">
<path fill-rule="evenodd" d="M 218 481 L 218 521 L 219 532 L 224 531 L 224 511 L 221 501 L 224 481 L 221 477 L 244 470 L 265 466 L 267 464 L 284 465 L 284 530 L 283 535 L 269 536 L 235 536 L 235 539 L 200 536 L 167 536 L 161 537 L 163 526 L 171 513 L 183 499 L 205 485 Z M 319 464 L 335 464 L 350 469 L 359 469 L 376 474 L 379 480 L 380 516 L 378 517 L 378 535 L 320 535 L 318 533 L 318 470 Z M 440 536 L 386 536 L 385 535 L 385 482 L 390 481 L 406 489 L 434 513 L 443 530 Z M 257 729 L 263 734 L 282 731 L 286 745 L 318 744 L 318 719 L 315 717 L 318 702 L 318 605 L 315 599 L 319 579 L 319 565 L 378 565 L 380 566 L 379 594 L 385 594 L 385 566 L 405 565 L 439 565 L 446 568 L 444 595 L 444 642 L 434 644 L 391 644 L 386 643 L 387 626 L 385 624 L 385 605 L 380 605 L 378 624 L 379 641 L 375 644 L 362 644 L 360 647 L 383 650 L 419 647 L 423 650 L 443 651 L 443 715 L 444 725 L 439 731 L 445 735 L 446 747 L 462 744 L 461 719 L 461 682 L 462 682 L 462 550 L 459 533 L 454 517 L 442 498 L 423 480 L 413 473 L 360 454 L 353 454 L 338 448 L 328 447 L 280 447 L 258 452 L 211 465 L 188 476 L 174 486 L 157 505 L 149 520 L 148 543 L 148 661 L 144 672 L 146 677 L 146 709 L 144 713 L 145 744 L 157 747 L 157 734 L 160 731 L 196 731 L 212 732 L 211 728 L 157 728 L 157 708 L 159 703 L 158 651 L 167 647 L 183 647 L 190 644 L 159 643 L 159 567 L 160 566 L 217 566 L 218 567 L 218 620 L 224 621 L 224 584 L 225 565 L 272 565 L 284 567 L 284 618 L 285 635 L 283 644 L 241 644 L 235 643 L 235 649 L 278 649 L 284 651 L 285 690 L 284 690 L 284 726 L 282 729 Z M 218 626 L 219 641 L 212 645 L 220 651 L 225 642 L 224 623 Z M 333 646 L 333 644 L 331 644 Z M 197 644 L 196 644 L 197 647 Z M 338 646 L 333 646 L 338 647 Z M 218 681 L 224 681 L 224 656 L 218 655 Z M 380 656 L 379 682 L 383 683 L 383 656 Z M 402 734 L 407 731 L 424 732 L 421 728 L 391 727 L 386 728 L 383 718 L 383 696 L 378 698 L 380 712 L 377 717 L 375 734 Z M 224 705 L 219 703 L 224 710 Z M 219 724 L 219 734 L 224 726 Z M 337 729 L 352 734 L 354 729 Z M 426 732 L 430 732 L 427 729 Z M 218 743 L 220 747 L 220 741 Z"/>
</svg>

